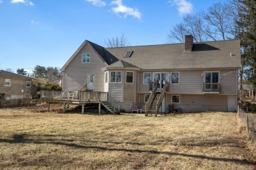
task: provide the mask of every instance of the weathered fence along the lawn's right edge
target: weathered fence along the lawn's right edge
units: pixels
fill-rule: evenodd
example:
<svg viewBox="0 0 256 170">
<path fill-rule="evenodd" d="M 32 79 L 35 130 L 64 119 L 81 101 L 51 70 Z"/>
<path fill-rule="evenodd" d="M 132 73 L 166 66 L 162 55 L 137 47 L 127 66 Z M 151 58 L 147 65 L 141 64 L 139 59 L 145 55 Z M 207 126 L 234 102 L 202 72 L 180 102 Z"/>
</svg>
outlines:
<svg viewBox="0 0 256 170">
<path fill-rule="evenodd" d="M 249 139 L 252 142 L 256 142 L 256 126 L 255 126 L 255 120 L 250 118 L 248 114 L 241 108 L 238 107 L 238 116 L 241 120 L 241 122 L 246 127 L 246 131 L 249 135 Z"/>
</svg>

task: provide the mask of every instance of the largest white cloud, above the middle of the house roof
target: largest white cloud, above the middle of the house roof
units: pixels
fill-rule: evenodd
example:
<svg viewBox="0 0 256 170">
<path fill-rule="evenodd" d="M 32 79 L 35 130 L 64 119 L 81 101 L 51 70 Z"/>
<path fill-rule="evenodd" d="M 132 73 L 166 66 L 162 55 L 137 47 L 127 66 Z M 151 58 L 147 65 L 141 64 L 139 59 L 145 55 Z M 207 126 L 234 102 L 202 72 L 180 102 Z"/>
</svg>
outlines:
<svg viewBox="0 0 256 170">
<path fill-rule="evenodd" d="M 130 7 L 127 7 L 123 5 L 122 0 L 116 0 L 112 1 L 111 5 L 117 5 L 117 7 L 113 8 L 113 12 L 115 12 L 117 15 L 119 13 L 124 14 L 124 17 L 126 16 L 134 16 L 135 18 L 141 19 L 141 14 L 138 9 L 132 9 Z"/>
</svg>

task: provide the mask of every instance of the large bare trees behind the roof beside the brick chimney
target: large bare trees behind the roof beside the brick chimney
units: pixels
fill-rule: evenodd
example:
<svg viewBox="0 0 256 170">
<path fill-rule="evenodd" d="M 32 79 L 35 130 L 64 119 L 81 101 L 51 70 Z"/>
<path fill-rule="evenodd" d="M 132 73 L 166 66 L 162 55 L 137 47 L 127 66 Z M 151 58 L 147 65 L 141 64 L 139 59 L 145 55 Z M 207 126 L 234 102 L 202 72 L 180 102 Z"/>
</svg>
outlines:
<svg viewBox="0 0 256 170">
<path fill-rule="evenodd" d="M 168 42 L 184 42 L 184 35 L 193 35 L 194 41 L 218 41 L 234 38 L 234 18 L 230 15 L 232 6 L 215 3 L 206 11 L 187 14 L 167 35 Z"/>
</svg>

